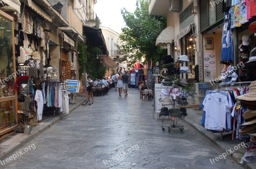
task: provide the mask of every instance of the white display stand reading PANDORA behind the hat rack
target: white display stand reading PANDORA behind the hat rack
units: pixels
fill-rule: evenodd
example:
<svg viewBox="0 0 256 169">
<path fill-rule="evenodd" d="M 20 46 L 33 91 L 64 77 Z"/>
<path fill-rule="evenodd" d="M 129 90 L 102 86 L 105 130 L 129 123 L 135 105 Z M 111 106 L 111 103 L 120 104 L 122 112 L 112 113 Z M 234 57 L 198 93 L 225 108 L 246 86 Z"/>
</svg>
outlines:
<svg viewBox="0 0 256 169">
<path fill-rule="evenodd" d="M 160 92 L 162 89 L 168 89 L 170 91 L 170 89 L 172 88 L 172 86 L 162 86 L 161 84 L 155 84 L 155 93 L 154 93 L 154 98 L 155 98 L 155 105 L 154 105 L 154 112 L 153 112 L 153 119 L 154 119 L 154 114 L 156 116 L 157 113 L 160 113 L 161 108 L 163 107 L 161 102 L 159 102 L 159 99 L 161 98 L 160 96 Z M 165 97 L 165 96 L 162 96 Z M 171 106 L 167 106 L 167 107 L 172 107 Z"/>
</svg>

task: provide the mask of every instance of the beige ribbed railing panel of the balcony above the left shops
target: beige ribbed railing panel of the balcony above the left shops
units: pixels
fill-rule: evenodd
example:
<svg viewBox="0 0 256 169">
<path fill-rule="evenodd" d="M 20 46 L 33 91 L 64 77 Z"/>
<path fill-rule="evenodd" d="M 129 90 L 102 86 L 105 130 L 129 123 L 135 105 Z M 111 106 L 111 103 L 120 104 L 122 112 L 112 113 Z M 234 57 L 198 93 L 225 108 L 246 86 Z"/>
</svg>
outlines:
<svg viewBox="0 0 256 169">
<path fill-rule="evenodd" d="M 81 20 L 76 15 L 75 11 L 72 9 L 71 6 L 68 6 L 68 22 L 69 25 L 76 29 L 77 33 L 83 35 L 83 25 Z"/>
</svg>

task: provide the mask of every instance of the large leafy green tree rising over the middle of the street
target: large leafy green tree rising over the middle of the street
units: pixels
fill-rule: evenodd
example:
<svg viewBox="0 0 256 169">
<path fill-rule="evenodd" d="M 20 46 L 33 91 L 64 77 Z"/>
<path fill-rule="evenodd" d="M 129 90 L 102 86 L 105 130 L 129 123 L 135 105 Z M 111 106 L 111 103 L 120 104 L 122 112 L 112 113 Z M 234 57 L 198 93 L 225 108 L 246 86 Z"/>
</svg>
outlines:
<svg viewBox="0 0 256 169">
<path fill-rule="evenodd" d="M 167 27 L 166 19 L 148 14 L 149 0 L 138 0 L 136 6 L 133 13 L 125 8 L 121 10 L 126 27 L 119 36 L 124 43 L 118 48 L 126 53 L 124 58 L 131 64 L 139 62 L 143 56 L 156 63 L 167 54 L 165 49 L 156 46 L 156 38 Z"/>
</svg>

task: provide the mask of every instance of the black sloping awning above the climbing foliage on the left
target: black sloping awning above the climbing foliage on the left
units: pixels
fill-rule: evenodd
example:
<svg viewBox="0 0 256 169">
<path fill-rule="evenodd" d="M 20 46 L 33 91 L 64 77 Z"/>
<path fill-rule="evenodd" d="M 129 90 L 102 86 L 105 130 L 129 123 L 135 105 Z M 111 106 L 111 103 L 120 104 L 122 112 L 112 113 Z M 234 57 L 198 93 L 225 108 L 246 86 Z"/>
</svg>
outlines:
<svg viewBox="0 0 256 169">
<path fill-rule="evenodd" d="M 85 35 L 87 38 L 87 45 L 90 45 L 90 47 L 99 47 L 100 50 L 102 50 L 102 55 L 109 55 L 107 44 L 105 42 L 101 29 L 84 25 L 83 35 Z"/>
</svg>

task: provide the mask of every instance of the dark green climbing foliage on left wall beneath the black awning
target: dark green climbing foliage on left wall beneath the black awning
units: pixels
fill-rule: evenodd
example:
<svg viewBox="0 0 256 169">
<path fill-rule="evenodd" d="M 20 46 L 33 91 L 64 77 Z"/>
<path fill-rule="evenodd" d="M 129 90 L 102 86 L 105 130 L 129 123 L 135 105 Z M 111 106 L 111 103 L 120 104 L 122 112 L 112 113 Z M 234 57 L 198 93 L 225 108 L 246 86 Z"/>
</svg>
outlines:
<svg viewBox="0 0 256 169">
<path fill-rule="evenodd" d="M 100 63 L 100 59 L 96 59 L 97 55 L 101 55 L 102 51 L 99 47 L 88 47 L 83 42 L 77 42 L 78 61 L 79 61 L 79 79 L 82 73 L 87 73 L 92 79 L 102 79 L 107 73 L 107 67 L 104 63 Z"/>
</svg>

